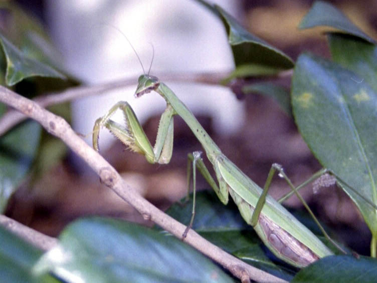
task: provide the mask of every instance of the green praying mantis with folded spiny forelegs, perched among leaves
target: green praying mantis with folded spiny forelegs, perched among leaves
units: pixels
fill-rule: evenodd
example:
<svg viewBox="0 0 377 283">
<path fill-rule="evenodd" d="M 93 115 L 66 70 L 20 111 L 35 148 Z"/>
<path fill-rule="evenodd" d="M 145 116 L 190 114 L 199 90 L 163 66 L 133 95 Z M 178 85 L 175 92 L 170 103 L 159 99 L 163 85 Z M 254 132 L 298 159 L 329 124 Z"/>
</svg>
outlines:
<svg viewBox="0 0 377 283">
<path fill-rule="evenodd" d="M 193 161 L 193 173 L 195 174 L 196 168 L 199 169 L 222 203 L 228 203 L 230 194 L 244 220 L 254 227 L 264 244 L 278 258 L 294 266 L 305 267 L 321 257 L 333 254 L 308 228 L 267 194 L 274 172 L 278 170 L 280 174 L 285 175 L 280 165 L 272 166 L 266 185 L 262 189 L 221 152 L 193 113 L 172 90 L 157 77 L 149 74 L 141 75 L 135 97 L 141 97 L 152 91 L 166 101 L 166 109 L 161 115 L 154 147 L 147 139 L 131 106 L 125 101 L 120 101 L 94 124 L 93 147 L 96 151 L 99 151 L 100 129 L 105 127 L 131 150 L 143 154 L 149 163 L 166 164 L 172 155 L 173 117 L 179 115 L 200 141 L 214 168 L 219 185 L 210 175 L 199 152 L 189 154 L 189 158 Z M 123 112 L 125 126 L 110 119 L 117 110 Z M 293 185 L 291 187 L 294 189 Z M 191 224 L 188 228 L 190 226 Z"/>
</svg>

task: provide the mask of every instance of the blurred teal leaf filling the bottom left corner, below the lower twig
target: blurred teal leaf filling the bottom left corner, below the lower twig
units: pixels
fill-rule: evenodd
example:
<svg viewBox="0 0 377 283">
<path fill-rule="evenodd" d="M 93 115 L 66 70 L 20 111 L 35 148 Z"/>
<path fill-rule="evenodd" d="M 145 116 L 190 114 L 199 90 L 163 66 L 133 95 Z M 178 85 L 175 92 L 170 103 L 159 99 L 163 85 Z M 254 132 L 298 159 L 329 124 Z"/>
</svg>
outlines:
<svg viewBox="0 0 377 283">
<path fill-rule="evenodd" d="M 24 242 L 0 226 L 0 281 L 1 282 L 58 282 L 51 275 L 36 276 L 32 267 L 42 251 Z"/>
</svg>

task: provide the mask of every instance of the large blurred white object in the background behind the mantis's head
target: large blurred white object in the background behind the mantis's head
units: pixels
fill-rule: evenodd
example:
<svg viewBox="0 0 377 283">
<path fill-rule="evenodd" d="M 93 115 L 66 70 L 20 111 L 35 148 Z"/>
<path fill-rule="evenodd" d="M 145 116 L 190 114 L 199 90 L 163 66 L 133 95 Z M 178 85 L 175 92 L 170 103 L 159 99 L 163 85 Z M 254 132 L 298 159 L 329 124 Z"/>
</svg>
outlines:
<svg viewBox="0 0 377 283">
<path fill-rule="evenodd" d="M 214 1 L 231 14 L 237 2 Z M 154 46 L 151 74 L 159 72 L 227 71 L 233 58 L 221 21 L 195 1 L 48 1 L 52 34 L 66 59 L 67 69 L 88 84 L 141 75 L 142 68 L 121 30 L 137 51 L 147 72 Z M 244 107 L 223 87 L 165 82 L 194 112 L 211 114 L 215 129 L 232 134 L 243 124 Z M 126 100 L 140 123 L 162 113 L 165 102 L 153 93 L 135 100 L 135 85 L 104 96 L 73 103 L 73 127 L 89 134 L 94 121 L 119 100 Z M 122 120 L 119 115 L 115 120 Z M 106 133 L 105 133 L 106 132 Z M 91 137 L 87 142 L 91 144 Z M 102 150 L 113 138 L 101 132 Z M 152 141 L 153 144 L 153 141 Z"/>
</svg>

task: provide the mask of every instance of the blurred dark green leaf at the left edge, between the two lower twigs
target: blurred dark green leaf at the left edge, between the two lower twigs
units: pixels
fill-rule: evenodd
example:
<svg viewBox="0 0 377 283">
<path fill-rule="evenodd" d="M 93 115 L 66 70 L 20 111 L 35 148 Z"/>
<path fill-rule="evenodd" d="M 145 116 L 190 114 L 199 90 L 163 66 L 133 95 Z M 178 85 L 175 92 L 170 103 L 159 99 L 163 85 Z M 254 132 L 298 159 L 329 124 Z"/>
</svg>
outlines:
<svg viewBox="0 0 377 283">
<path fill-rule="evenodd" d="M 32 166 L 41 131 L 37 122 L 27 121 L 0 138 L 0 213 Z"/>
</svg>

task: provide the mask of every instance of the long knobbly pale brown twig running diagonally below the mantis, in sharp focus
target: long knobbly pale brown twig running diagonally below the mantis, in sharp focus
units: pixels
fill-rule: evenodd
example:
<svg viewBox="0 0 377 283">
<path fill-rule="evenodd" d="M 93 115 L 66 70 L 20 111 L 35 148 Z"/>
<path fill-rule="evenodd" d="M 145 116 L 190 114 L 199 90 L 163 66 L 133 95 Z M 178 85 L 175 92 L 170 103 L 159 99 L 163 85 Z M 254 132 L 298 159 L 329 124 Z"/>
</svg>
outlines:
<svg viewBox="0 0 377 283">
<path fill-rule="evenodd" d="M 151 219 L 177 238 L 181 238 L 185 226 L 140 196 L 136 190 L 128 186 L 116 170 L 95 150 L 87 145 L 70 125 L 59 116 L 42 108 L 36 102 L 14 93 L 0 86 L 0 102 L 16 108 L 28 117 L 38 121 L 50 134 L 60 138 L 67 146 L 80 156 L 100 177 L 101 181 L 112 189 L 119 197 L 131 204 L 145 219 Z M 265 271 L 250 266 L 242 260 L 223 251 L 218 246 L 201 237 L 194 230 L 190 230 L 183 239 L 205 255 L 209 256 L 236 277 L 243 281 L 251 278 L 256 281 L 285 282 Z"/>
</svg>

